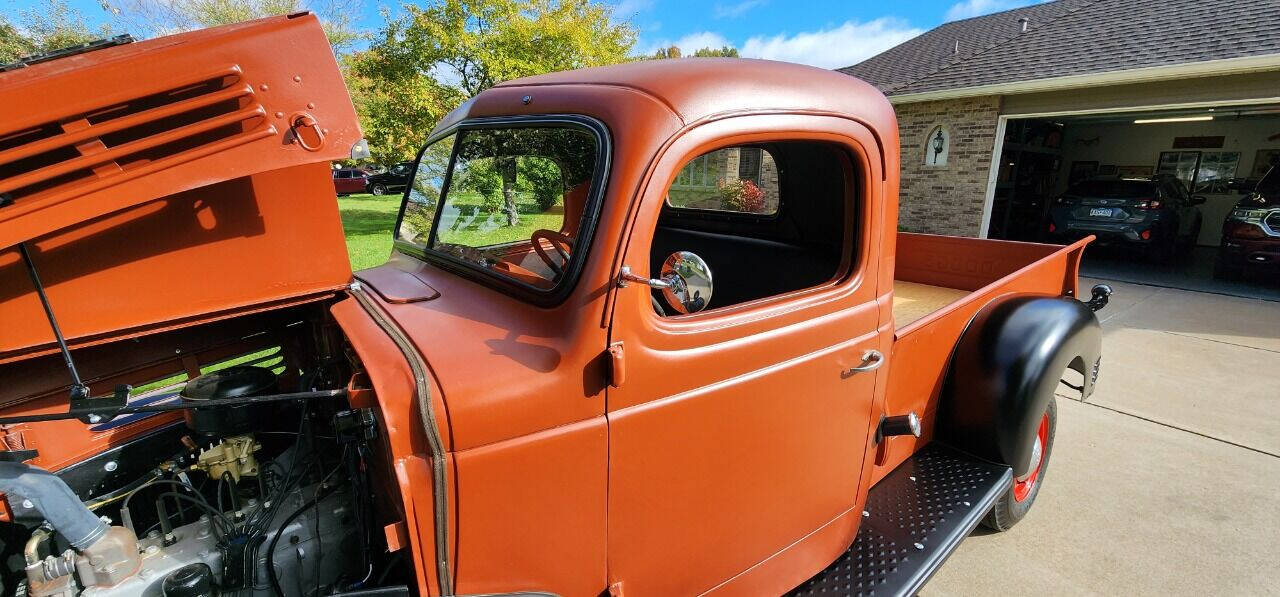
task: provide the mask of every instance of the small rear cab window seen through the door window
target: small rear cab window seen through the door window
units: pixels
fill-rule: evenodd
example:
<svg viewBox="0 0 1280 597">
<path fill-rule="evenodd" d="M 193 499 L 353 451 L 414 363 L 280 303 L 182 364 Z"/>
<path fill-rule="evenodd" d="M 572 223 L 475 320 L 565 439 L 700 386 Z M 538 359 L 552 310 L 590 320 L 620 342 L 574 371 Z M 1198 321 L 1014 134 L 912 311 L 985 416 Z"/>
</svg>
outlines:
<svg viewBox="0 0 1280 597">
<path fill-rule="evenodd" d="M 778 164 L 763 147 L 724 147 L 694 158 L 667 192 L 667 205 L 755 215 L 778 213 Z"/>
</svg>

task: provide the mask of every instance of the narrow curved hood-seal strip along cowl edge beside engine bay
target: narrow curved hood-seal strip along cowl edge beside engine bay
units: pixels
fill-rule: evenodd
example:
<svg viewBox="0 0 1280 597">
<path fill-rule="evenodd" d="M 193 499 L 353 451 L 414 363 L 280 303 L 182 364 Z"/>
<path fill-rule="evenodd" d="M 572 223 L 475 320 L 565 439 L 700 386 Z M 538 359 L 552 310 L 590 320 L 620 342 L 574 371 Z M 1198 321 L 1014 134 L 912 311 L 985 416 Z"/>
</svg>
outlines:
<svg viewBox="0 0 1280 597">
<path fill-rule="evenodd" d="M 440 441 L 440 428 L 435 421 L 435 410 L 431 407 L 431 391 L 426 378 L 426 361 L 422 355 L 413 348 L 404 331 L 392 320 L 392 318 L 378 306 L 367 295 L 358 281 L 348 287 L 351 296 L 360 302 L 360 306 L 369 313 L 378 327 L 392 338 L 392 342 L 404 354 L 410 369 L 413 370 L 413 386 L 416 392 L 417 410 L 422 418 L 422 428 L 426 430 L 426 441 L 431 448 L 431 486 L 434 500 L 435 524 L 435 575 L 439 579 L 440 594 L 453 594 L 453 578 L 449 570 L 449 479 L 444 468 L 444 443 Z"/>
</svg>

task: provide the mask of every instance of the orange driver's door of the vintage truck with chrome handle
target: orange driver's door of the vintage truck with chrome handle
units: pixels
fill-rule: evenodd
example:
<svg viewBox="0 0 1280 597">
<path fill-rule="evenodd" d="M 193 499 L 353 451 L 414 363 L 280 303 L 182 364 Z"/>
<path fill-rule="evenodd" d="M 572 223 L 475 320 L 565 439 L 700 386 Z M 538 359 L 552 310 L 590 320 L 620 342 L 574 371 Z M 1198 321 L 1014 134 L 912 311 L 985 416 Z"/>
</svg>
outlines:
<svg viewBox="0 0 1280 597">
<path fill-rule="evenodd" d="M 612 314 L 608 548 L 611 583 L 628 596 L 712 589 L 858 500 L 886 350 L 868 224 L 879 163 L 820 133 L 835 119 L 748 133 L 778 131 L 773 118 L 677 141 L 625 247 L 637 281 Z M 709 296 L 690 286 L 696 313 L 643 282 L 680 251 L 712 272 Z"/>
</svg>

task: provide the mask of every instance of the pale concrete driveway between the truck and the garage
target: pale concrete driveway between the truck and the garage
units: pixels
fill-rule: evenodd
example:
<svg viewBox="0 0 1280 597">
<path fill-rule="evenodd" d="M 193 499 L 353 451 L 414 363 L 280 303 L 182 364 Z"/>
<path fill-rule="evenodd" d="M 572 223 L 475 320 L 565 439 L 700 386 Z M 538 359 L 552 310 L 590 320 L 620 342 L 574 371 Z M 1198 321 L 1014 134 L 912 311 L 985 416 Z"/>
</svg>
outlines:
<svg viewBox="0 0 1280 597">
<path fill-rule="evenodd" d="M 1280 302 L 1107 283 L 1036 507 L 922 594 L 1280 594 Z"/>
</svg>

